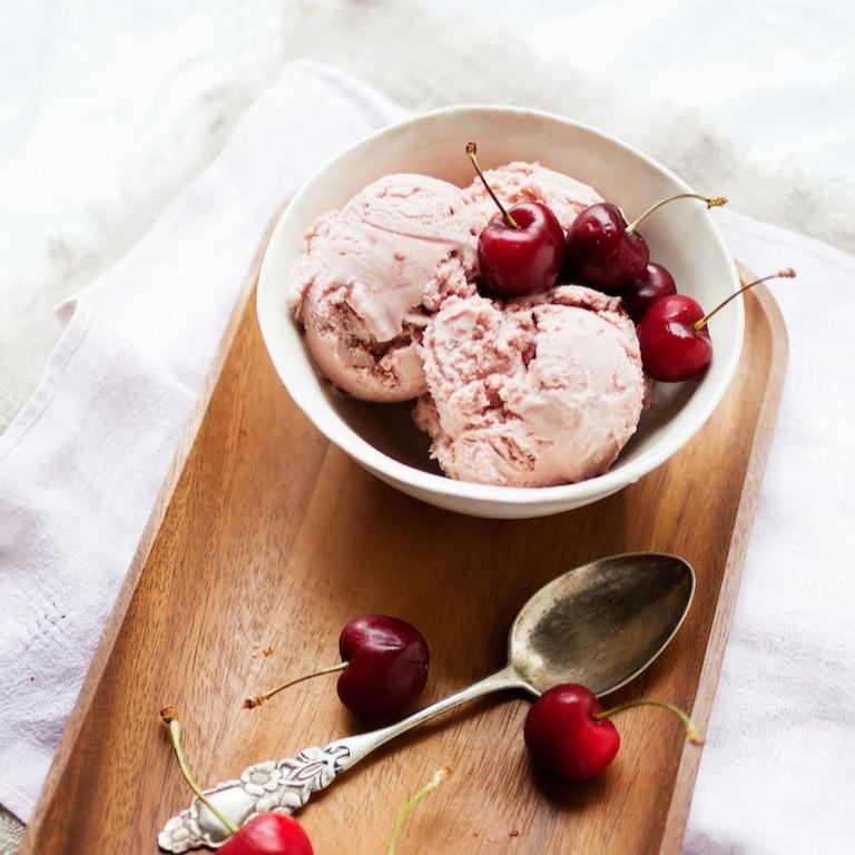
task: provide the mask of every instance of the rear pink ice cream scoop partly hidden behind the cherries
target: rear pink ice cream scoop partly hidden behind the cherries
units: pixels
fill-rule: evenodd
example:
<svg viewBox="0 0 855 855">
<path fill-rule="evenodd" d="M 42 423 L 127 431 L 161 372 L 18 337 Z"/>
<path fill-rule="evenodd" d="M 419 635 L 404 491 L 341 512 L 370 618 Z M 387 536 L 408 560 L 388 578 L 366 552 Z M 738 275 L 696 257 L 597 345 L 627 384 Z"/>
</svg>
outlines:
<svg viewBox="0 0 855 855">
<path fill-rule="evenodd" d="M 540 202 L 552 210 L 566 229 L 582 208 L 602 202 L 593 187 L 538 163 L 514 160 L 498 169 L 488 169 L 484 177 L 503 205 Z M 463 197 L 472 208 L 479 232 L 499 213 L 480 178 L 463 190 Z"/>
</svg>

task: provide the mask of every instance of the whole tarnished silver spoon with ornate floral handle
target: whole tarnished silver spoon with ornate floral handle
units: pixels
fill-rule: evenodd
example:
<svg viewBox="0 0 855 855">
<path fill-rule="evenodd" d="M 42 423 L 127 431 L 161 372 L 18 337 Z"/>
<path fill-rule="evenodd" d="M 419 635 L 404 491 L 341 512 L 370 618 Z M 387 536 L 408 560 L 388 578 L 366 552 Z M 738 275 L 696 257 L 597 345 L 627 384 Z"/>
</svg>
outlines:
<svg viewBox="0 0 855 855">
<path fill-rule="evenodd" d="M 682 623 L 695 591 L 691 567 L 676 556 L 635 552 L 601 558 L 559 576 L 522 607 L 508 638 L 508 665 L 389 727 L 257 763 L 239 780 L 205 795 L 242 825 L 255 814 L 292 814 L 345 769 L 416 725 L 503 689 L 539 696 L 561 682 L 608 695 L 643 671 Z M 222 846 L 228 834 L 198 798 L 158 835 L 168 852 Z"/>
</svg>

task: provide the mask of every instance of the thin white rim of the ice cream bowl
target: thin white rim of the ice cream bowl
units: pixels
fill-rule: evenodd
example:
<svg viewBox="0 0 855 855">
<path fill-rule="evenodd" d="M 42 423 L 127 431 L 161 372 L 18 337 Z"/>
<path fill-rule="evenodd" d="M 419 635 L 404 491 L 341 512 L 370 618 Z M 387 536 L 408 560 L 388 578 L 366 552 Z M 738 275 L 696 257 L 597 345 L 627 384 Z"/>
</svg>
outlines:
<svg viewBox="0 0 855 855">
<path fill-rule="evenodd" d="M 513 115 L 518 117 L 532 117 L 547 121 L 556 121 L 561 125 L 566 125 L 576 129 L 583 130 L 623 149 L 628 154 L 643 160 L 653 169 L 664 174 L 667 178 L 676 184 L 679 191 L 695 193 L 695 189 L 680 176 L 674 173 L 664 164 L 659 163 L 656 158 L 650 157 L 640 149 L 631 146 L 617 137 L 606 134 L 598 128 L 569 119 L 558 114 L 549 112 L 547 110 L 532 109 L 527 107 L 504 106 L 504 105 L 491 105 L 491 104 L 461 104 L 450 107 L 441 107 L 435 110 L 426 112 L 416 112 L 409 116 L 401 121 L 396 121 L 392 125 L 386 125 L 379 130 L 361 138 L 347 148 L 338 151 L 332 157 L 327 158 L 308 178 L 301 185 L 294 196 L 291 198 L 285 208 L 279 213 L 276 220 L 276 225 L 271 233 L 271 238 L 265 247 L 262 265 L 258 271 L 258 281 L 256 288 L 256 314 L 258 317 L 258 325 L 262 331 L 262 337 L 267 348 L 271 361 L 276 368 L 276 373 L 279 376 L 283 385 L 291 395 L 291 399 L 297 405 L 297 407 L 304 413 L 304 415 L 312 422 L 316 430 L 318 430 L 330 442 L 334 443 L 337 448 L 345 451 L 353 456 L 358 463 L 366 469 L 371 470 L 375 474 L 382 476 L 385 480 L 392 482 L 404 483 L 407 487 L 423 490 L 432 494 L 440 494 L 449 499 L 463 499 L 473 500 L 480 502 L 490 502 L 502 505 L 534 505 L 541 503 L 559 503 L 579 507 L 591 501 L 596 501 L 601 498 L 606 498 L 629 484 L 635 483 L 643 475 L 649 474 L 655 469 L 665 463 L 669 458 L 676 454 L 689 440 L 691 440 L 700 428 L 706 423 L 714 410 L 718 406 L 725 392 L 730 385 L 730 381 L 736 373 L 736 367 L 739 363 L 739 357 L 743 351 L 744 337 L 745 337 L 745 305 L 741 299 L 734 301 L 735 309 L 737 312 L 736 318 L 736 346 L 730 353 L 728 364 L 720 375 L 717 386 L 709 390 L 701 404 L 697 406 L 696 413 L 690 421 L 684 425 L 682 430 L 676 432 L 674 435 L 666 435 L 660 438 L 652 448 L 643 451 L 633 460 L 627 462 L 619 469 L 610 469 L 602 475 L 590 478 L 584 481 L 578 481 L 570 484 L 556 484 L 551 487 L 505 487 L 500 484 L 482 484 L 473 481 L 458 481 L 456 479 L 449 478 L 448 475 L 439 475 L 433 472 L 425 472 L 420 469 L 415 469 L 406 463 L 395 460 L 389 456 L 384 452 L 376 449 L 370 442 L 364 440 L 356 431 L 353 430 L 337 413 L 335 419 L 338 425 L 341 425 L 342 433 L 338 434 L 335 430 L 330 429 L 326 424 L 320 424 L 314 416 L 314 409 L 309 401 L 307 401 L 299 389 L 295 389 L 288 383 L 287 374 L 285 371 L 279 370 L 277 361 L 273 357 L 271 338 L 275 336 L 275 332 L 271 330 L 266 323 L 265 304 L 268 299 L 273 298 L 269 294 L 274 287 L 274 277 L 269 275 L 268 266 L 272 262 L 268 262 L 269 249 L 276 243 L 276 236 L 278 232 L 284 228 L 284 223 L 288 215 L 288 212 L 298 207 L 306 196 L 309 196 L 313 191 L 313 185 L 315 180 L 333 168 L 340 160 L 344 158 L 358 155 L 360 149 L 365 149 L 373 146 L 379 140 L 382 140 L 386 136 L 392 136 L 400 132 L 400 130 L 409 125 L 416 125 L 423 121 L 430 121 L 436 118 L 444 118 L 449 116 L 455 116 L 461 114 L 499 114 L 499 115 Z M 718 225 L 715 218 L 709 215 L 709 212 L 705 212 L 709 225 L 711 228 L 711 237 L 715 245 L 720 250 L 725 258 L 726 265 L 730 271 L 730 277 L 734 285 L 734 289 L 739 286 L 739 274 L 737 272 L 736 263 L 727 249 L 727 245 L 721 236 Z M 305 345 L 304 345 L 305 346 Z M 318 382 L 325 382 L 318 375 Z"/>
</svg>

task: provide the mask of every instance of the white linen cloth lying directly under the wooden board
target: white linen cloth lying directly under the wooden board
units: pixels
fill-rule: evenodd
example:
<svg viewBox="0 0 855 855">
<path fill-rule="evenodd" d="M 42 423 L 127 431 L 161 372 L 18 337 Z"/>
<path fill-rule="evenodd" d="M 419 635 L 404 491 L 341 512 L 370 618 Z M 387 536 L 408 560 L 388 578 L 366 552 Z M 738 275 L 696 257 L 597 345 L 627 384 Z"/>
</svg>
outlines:
<svg viewBox="0 0 855 855">
<path fill-rule="evenodd" d="M 276 205 L 401 110 L 333 70 L 288 67 L 219 158 L 61 312 L 36 395 L 0 438 L 0 803 L 27 818 Z M 790 335 L 774 440 L 686 848 L 839 851 L 855 820 L 855 578 L 848 448 L 855 258 L 733 213 Z"/>
</svg>

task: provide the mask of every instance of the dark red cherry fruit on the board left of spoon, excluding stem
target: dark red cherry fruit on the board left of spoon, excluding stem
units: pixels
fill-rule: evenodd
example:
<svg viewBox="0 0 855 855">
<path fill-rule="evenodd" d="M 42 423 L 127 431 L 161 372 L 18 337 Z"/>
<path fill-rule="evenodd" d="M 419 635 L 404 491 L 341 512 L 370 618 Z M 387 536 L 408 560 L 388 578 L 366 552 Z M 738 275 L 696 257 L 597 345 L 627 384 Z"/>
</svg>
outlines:
<svg viewBox="0 0 855 855">
<path fill-rule="evenodd" d="M 362 716 L 385 715 L 410 706 L 428 680 L 428 642 L 404 620 L 365 615 L 342 630 L 338 648 L 347 668 L 338 697 Z"/>
</svg>

